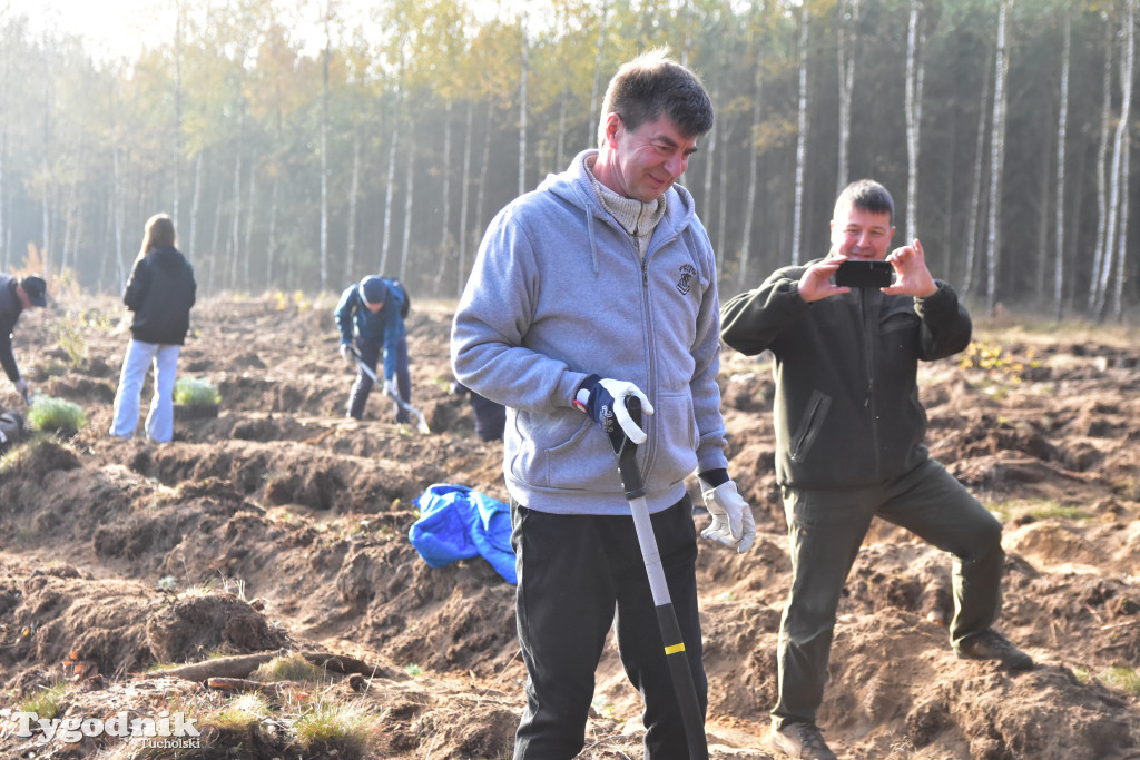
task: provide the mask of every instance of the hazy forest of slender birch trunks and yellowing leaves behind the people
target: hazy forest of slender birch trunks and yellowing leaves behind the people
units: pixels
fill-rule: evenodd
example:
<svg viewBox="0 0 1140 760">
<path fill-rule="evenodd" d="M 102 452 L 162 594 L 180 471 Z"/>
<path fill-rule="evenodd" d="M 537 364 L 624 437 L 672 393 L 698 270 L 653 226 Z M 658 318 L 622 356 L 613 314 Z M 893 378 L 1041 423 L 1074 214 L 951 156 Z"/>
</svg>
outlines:
<svg viewBox="0 0 1140 760">
<path fill-rule="evenodd" d="M 490 218 L 596 145 L 617 66 L 668 46 L 716 108 L 682 183 L 722 297 L 823 255 L 872 177 L 975 305 L 1134 321 L 1137 5 L 163 0 L 106 57 L 0 0 L 0 263 L 117 293 L 164 211 L 205 296 L 456 297 Z"/>
</svg>

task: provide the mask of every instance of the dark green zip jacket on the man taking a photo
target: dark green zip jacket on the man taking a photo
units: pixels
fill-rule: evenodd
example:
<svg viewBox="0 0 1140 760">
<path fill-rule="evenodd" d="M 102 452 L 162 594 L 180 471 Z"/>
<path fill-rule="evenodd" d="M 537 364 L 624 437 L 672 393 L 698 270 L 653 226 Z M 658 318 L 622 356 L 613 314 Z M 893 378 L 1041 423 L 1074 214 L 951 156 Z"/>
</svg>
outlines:
<svg viewBox="0 0 1140 760">
<path fill-rule="evenodd" d="M 720 337 L 775 361 L 776 480 L 793 488 L 852 488 L 897 477 L 927 459 L 918 362 L 958 353 L 971 322 L 954 291 L 928 299 L 874 288 L 807 303 L 812 263 L 774 272 L 720 310 Z"/>
</svg>

